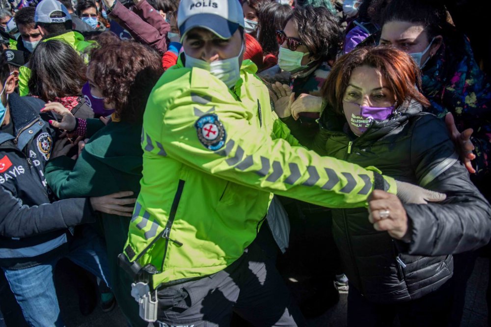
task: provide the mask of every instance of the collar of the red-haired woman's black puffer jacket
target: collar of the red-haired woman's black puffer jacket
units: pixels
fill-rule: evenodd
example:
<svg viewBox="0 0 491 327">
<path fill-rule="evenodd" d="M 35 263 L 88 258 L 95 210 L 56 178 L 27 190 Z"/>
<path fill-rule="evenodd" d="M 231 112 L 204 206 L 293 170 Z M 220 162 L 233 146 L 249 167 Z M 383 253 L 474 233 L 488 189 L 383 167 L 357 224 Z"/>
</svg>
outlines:
<svg viewBox="0 0 491 327">
<path fill-rule="evenodd" d="M 375 120 L 362 136 L 365 139 L 385 136 L 396 128 L 404 125 L 409 118 L 416 116 L 421 111 L 423 111 L 423 106 L 419 102 L 415 100 L 406 101 L 393 111 L 389 119 L 382 121 Z M 335 114 L 332 110 L 329 110 L 328 107 L 322 113 L 321 118 L 319 119 L 319 125 L 329 134 L 346 134 L 347 129 L 345 129 L 345 126 L 347 125 L 347 122 L 345 116 Z"/>
</svg>

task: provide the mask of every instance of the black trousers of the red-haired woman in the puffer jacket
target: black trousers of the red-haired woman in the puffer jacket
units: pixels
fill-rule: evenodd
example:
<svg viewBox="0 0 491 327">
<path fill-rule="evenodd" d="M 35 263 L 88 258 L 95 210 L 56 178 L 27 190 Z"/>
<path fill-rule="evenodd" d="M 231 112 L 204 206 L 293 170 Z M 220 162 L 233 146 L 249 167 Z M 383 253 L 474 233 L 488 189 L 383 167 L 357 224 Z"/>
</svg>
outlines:
<svg viewBox="0 0 491 327">
<path fill-rule="evenodd" d="M 445 327 L 450 320 L 454 288 L 452 280 L 424 297 L 393 304 L 373 303 L 350 284 L 348 327 L 390 327 L 397 316 L 401 327 Z"/>
</svg>

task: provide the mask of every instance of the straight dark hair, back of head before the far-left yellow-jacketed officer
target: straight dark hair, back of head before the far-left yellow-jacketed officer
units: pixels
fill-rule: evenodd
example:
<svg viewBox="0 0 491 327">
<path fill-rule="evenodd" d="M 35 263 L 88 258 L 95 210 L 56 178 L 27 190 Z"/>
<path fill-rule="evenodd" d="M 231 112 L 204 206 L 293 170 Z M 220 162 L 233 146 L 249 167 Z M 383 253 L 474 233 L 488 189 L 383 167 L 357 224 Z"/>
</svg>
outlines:
<svg viewBox="0 0 491 327">
<path fill-rule="evenodd" d="M 46 102 L 55 101 L 55 98 L 78 96 L 86 82 L 87 67 L 82 57 L 62 40 L 39 42 L 29 65 L 29 90 L 32 95 Z"/>
</svg>

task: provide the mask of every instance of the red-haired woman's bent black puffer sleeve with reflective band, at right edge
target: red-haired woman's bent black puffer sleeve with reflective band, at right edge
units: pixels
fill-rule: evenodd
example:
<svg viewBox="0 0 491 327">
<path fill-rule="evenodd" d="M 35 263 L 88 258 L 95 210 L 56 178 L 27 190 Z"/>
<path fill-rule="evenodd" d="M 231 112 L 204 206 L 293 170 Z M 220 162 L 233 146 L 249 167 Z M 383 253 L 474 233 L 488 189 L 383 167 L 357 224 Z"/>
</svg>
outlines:
<svg viewBox="0 0 491 327">
<path fill-rule="evenodd" d="M 420 185 L 445 193 L 441 203 L 405 204 L 412 255 L 460 253 L 486 245 L 491 238 L 491 208 L 455 159 L 453 143 L 436 118 L 424 118 L 415 128 L 412 164 Z"/>
</svg>

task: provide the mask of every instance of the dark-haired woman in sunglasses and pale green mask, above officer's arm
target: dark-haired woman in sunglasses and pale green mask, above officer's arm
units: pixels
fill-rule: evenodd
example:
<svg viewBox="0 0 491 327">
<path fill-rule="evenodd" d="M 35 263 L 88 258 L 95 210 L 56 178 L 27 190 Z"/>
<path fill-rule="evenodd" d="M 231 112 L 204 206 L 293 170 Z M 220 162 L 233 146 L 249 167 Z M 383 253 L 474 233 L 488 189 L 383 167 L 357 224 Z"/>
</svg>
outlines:
<svg viewBox="0 0 491 327">
<path fill-rule="evenodd" d="M 338 19 L 325 7 L 296 7 L 283 29 L 276 31 L 280 46 L 278 65 L 260 74 L 268 82 L 273 82 L 275 93 L 278 89 L 274 82 L 280 80 L 278 73 L 283 71 L 289 75 L 288 86 L 295 93 L 296 100 L 293 111 L 302 112 L 301 122 L 306 128 L 315 126 L 315 119 L 319 118 L 322 107 L 319 91 L 341 42 L 338 25 Z"/>
</svg>

